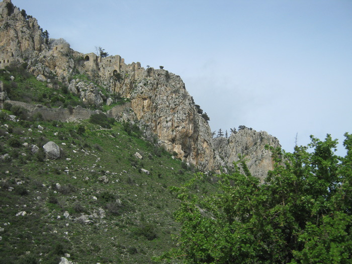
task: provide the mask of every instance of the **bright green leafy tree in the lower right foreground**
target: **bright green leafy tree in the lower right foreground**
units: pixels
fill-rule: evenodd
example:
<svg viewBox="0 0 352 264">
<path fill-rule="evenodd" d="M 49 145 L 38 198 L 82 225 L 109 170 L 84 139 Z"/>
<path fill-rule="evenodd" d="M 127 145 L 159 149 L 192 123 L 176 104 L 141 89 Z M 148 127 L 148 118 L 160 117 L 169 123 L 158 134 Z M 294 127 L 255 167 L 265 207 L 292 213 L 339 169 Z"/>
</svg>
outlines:
<svg viewBox="0 0 352 264">
<path fill-rule="evenodd" d="M 348 263 L 352 257 L 352 135 L 345 157 L 337 140 L 311 136 L 293 153 L 271 148 L 274 169 L 263 184 L 239 161 L 213 196 L 181 188 L 175 218 L 179 247 L 161 258 L 182 263 Z M 312 150 L 310 150 L 312 149 Z M 239 171 L 242 167 L 244 174 Z"/>
</svg>

